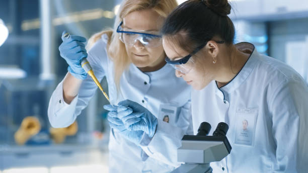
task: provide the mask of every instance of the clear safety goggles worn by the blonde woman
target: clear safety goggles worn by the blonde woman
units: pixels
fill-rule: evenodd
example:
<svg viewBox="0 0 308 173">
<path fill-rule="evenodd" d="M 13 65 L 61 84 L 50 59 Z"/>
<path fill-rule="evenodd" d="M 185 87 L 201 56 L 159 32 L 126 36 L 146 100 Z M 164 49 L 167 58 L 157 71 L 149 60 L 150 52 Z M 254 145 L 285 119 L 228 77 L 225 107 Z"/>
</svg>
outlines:
<svg viewBox="0 0 308 173">
<path fill-rule="evenodd" d="M 139 41 L 143 46 L 146 47 L 158 47 L 162 45 L 162 36 L 156 35 L 154 33 L 146 33 L 146 31 L 138 31 L 123 29 L 123 21 L 119 24 L 117 28 L 117 33 L 119 33 L 120 40 L 126 44 L 133 46 L 136 41 Z"/>
</svg>

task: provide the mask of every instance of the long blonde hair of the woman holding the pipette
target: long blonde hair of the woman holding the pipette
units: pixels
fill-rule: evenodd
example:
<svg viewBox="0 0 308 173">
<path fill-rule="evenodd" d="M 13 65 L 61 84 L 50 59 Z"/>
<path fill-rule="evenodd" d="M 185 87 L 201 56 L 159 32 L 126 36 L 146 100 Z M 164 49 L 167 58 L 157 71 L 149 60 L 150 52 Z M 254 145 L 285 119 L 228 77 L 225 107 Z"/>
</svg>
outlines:
<svg viewBox="0 0 308 173">
<path fill-rule="evenodd" d="M 121 4 L 119 12 L 116 16 L 113 30 L 104 30 L 94 34 L 88 41 L 87 49 L 91 48 L 93 44 L 98 41 L 102 35 L 107 34 L 107 53 L 108 57 L 112 59 L 114 63 L 114 81 L 116 83 L 117 90 L 119 91 L 120 80 L 122 73 L 131 63 L 125 44 L 121 42 L 116 32 L 118 25 L 123 18 L 129 13 L 141 10 L 151 9 L 157 12 L 163 18 L 167 16 L 178 6 L 176 0 L 124 0 Z"/>
</svg>

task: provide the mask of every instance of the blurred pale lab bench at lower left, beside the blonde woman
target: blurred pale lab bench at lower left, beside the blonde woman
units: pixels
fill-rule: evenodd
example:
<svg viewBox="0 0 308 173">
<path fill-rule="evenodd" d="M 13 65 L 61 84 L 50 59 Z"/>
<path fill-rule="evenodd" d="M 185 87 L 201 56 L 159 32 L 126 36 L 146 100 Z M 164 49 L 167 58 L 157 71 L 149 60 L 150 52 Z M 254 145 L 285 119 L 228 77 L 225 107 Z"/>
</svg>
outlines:
<svg viewBox="0 0 308 173">
<path fill-rule="evenodd" d="M 90 145 L 0 146 L 0 170 L 16 167 L 108 165 L 108 147 Z"/>
</svg>

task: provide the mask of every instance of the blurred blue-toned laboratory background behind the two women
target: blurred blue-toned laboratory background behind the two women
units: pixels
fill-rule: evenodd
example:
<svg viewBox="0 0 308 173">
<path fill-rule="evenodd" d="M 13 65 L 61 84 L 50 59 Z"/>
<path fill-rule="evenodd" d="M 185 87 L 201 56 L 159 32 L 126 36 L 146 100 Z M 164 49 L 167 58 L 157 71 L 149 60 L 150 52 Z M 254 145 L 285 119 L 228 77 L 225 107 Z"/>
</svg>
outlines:
<svg viewBox="0 0 308 173">
<path fill-rule="evenodd" d="M 65 129 L 51 128 L 47 108 L 67 72 L 58 51 L 62 32 L 89 39 L 112 28 L 121 2 L 0 1 L 0 173 L 108 172 L 109 126 L 103 109 L 108 101 L 103 95 L 97 91 Z M 308 82 L 308 1 L 229 2 L 235 42 L 255 44 Z M 108 91 L 105 79 L 102 85 Z"/>
</svg>

